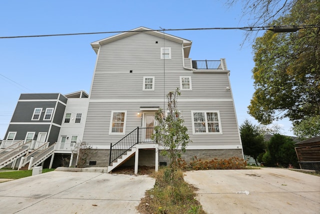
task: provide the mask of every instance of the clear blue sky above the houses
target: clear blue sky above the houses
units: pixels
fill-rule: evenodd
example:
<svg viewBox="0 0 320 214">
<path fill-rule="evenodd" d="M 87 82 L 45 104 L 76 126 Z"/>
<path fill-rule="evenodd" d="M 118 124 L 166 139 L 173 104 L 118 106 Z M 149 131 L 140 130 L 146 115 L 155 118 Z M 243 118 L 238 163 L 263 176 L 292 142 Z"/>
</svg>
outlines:
<svg viewBox="0 0 320 214">
<path fill-rule="evenodd" d="M 239 1 L 241 2 L 241 1 Z M 150 29 L 245 27 L 241 3 L 225 1 L 1 1 L 0 37 Z M 170 31 L 192 41 L 190 58 L 225 58 L 238 124 L 254 92 L 251 44 L 241 30 Z M 261 32 L 263 33 L 263 32 Z M 260 34 L 261 34 L 260 33 Z M 96 54 L 90 43 L 113 34 L 0 39 L 0 139 L 21 93 L 89 93 Z M 288 120 L 276 122 L 292 135 Z"/>
</svg>

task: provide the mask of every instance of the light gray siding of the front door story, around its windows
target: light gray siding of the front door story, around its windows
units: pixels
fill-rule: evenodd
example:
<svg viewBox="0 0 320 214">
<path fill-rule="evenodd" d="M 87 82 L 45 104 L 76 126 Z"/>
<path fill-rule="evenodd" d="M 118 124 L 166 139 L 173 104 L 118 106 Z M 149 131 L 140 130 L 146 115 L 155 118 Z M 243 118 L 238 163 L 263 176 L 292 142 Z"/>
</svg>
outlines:
<svg viewBox="0 0 320 214">
<path fill-rule="evenodd" d="M 137 126 L 141 127 L 141 116 L 137 116 L 140 106 L 163 107 L 163 102 L 89 103 L 83 141 L 93 145 L 116 143 L 125 135 L 109 135 L 111 111 L 127 111 L 125 134 L 128 134 Z M 178 102 L 178 109 L 193 141 L 189 145 L 239 144 L 232 102 Z M 197 110 L 219 111 L 223 134 L 192 134 L 191 111 Z"/>
</svg>

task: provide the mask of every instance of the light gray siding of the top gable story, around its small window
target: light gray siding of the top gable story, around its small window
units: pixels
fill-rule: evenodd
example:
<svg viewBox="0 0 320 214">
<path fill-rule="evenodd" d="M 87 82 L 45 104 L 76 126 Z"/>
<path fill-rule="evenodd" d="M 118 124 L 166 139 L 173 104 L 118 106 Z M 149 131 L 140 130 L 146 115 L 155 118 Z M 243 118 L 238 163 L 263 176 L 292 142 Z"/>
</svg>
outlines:
<svg viewBox="0 0 320 214">
<path fill-rule="evenodd" d="M 158 41 L 158 44 L 155 44 Z M 165 60 L 170 70 L 182 67 L 182 45 L 163 38 L 139 33 L 101 46 L 96 73 L 135 71 L 163 71 L 160 48 L 171 48 L 171 59 Z"/>
</svg>

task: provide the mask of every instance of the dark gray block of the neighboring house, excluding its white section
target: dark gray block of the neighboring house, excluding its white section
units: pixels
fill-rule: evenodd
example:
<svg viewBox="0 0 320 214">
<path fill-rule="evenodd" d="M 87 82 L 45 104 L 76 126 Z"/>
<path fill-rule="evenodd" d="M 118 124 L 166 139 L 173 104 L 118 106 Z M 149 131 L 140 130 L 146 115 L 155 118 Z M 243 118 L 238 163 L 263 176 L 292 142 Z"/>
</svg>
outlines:
<svg viewBox="0 0 320 214">
<path fill-rule="evenodd" d="M 59 93 L 21 94 L 4 140 L 57 140 L 67 98 Z"/>
</svg>

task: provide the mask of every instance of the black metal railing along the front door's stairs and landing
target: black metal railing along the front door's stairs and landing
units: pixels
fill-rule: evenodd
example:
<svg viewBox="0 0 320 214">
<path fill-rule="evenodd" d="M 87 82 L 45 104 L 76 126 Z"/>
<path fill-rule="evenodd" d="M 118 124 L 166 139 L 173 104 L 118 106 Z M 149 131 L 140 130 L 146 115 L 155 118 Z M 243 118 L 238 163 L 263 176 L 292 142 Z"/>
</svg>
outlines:
<svg viewBox="0 0 320 214">
<path fill-rule="evenodd" d="M 137 143 L 154 142 L 151 139 L 154 128 L 136 127 L 114 145 L 110 144 L 109 165 Z"/>
</svg>

